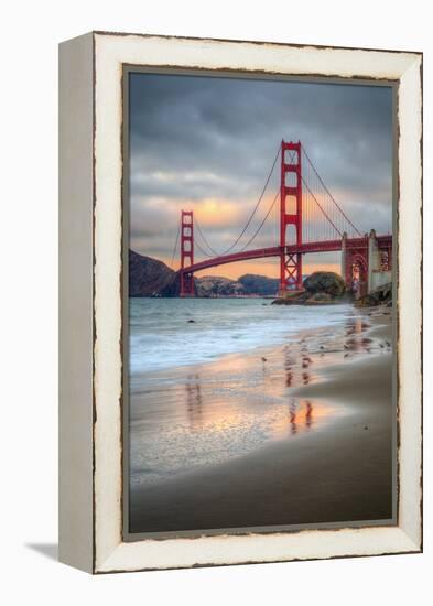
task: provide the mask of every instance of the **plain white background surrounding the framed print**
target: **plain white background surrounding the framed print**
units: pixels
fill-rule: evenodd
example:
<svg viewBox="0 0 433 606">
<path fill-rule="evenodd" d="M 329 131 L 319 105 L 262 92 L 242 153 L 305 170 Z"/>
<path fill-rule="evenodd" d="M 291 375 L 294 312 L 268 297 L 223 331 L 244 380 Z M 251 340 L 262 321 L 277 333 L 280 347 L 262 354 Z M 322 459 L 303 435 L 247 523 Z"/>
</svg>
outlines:
<svg viewBox="0 0 433 606">
<path fill-rule="evenodd" d="M 3 604 L 431 604 L 432 17 L 422 0 L 61 0 L 2 6 Z M 424 554 L 91 577 L 57 540 L 57 43 L 90 30 L 424 52 Z M 414 268 L 416 269 L 416 268 Z"/>
</svg>

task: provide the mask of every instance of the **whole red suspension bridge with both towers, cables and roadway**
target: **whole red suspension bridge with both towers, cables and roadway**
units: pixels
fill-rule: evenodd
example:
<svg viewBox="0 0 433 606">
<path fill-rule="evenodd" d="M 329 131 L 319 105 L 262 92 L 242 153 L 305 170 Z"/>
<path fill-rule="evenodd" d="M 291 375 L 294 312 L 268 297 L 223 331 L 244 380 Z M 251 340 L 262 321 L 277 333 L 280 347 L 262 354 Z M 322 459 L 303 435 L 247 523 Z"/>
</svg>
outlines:
<svg viewBox="0 0 433 606">
<path fill-rule="evenodd" d="M 256 231 L 240 245 L 242 237 L 264 201 L 271 175 L 280 159 L 280 184 L 272 203 Z M 269 220 L 279 201 L 279 238 L 277 246 L 250 248 Z M 318 217 L 318 218 L 317 218 Z M 195 231 L 196 228 L 196 231 Z M 202 244 L 197 241 L 196 232 Z M 348 289 L 359 294 L 390 282 L 392 235 L 361 234 L 325 185 L 301 141 L 282 140 L 263 190 L 236 240 L 224 251 L 208 242 L 193 210 L 181 212 L 181 223 L 173 259 L 181 236 L 181 296 L 194 296 L 194 273 L 238 261 L 277 257 L 280 261 L 280 295 L 300 291 L 303 256 L 314 252 L 342 252 L 342 277 Z M 235 248 L 239 250 L 235 251 Z M 205 257 L 195 262 L 197 248 Z"/>
</svg>

